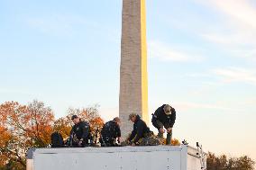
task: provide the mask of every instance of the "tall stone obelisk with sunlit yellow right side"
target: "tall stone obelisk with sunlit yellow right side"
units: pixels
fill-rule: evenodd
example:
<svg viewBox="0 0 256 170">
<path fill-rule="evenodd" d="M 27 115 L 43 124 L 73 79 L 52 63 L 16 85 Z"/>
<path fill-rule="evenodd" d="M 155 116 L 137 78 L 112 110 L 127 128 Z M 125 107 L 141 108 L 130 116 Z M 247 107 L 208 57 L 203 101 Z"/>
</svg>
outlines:
<svg viewBox="0 0 256 170">
<path fill-rule="evenodd" d="M 122 19 L 119 116 L 125 139 L 133 130 L 130 113 L 149 122 L 145 0 L 123 0 Z"/>
</svg>

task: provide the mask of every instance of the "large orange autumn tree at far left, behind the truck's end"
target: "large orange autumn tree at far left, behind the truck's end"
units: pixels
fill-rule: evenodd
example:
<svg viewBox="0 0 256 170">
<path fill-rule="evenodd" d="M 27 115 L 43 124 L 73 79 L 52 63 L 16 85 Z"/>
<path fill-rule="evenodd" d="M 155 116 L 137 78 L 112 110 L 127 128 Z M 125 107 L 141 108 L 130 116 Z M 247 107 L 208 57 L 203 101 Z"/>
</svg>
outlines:
<svg viewBox="0 0 256 170">
<path fill-rule="evenodd" d="M 50 144 L 53 119 L 50 107 L 36 100 L 27 106 L 17 102 L 1 104 L 1 166 L 24 169 L 25 154 L 29 148 Z"/>
</svg>

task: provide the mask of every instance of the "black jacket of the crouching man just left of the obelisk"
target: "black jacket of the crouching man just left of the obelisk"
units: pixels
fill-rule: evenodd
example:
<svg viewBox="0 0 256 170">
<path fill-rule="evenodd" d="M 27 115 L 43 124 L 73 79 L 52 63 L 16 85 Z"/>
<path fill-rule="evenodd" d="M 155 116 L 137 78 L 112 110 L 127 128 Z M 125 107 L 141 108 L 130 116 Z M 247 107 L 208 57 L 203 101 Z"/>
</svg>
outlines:
<svg viewBox="0 0 256 170">
<path fill-rule="evenodd" d="M 105 123 L 101 130 L 103 138 L 116 139 L 121 137 L 121 130 L 119 125 L 115 121 L 108 121 Z"/>
</svg>

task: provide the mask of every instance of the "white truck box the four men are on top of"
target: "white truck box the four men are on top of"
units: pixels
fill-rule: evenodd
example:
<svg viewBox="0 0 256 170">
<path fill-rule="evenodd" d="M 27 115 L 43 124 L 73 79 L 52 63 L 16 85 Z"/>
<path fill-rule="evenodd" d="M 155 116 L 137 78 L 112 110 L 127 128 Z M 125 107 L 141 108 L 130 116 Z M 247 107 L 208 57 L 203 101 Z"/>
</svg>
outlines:
<svg viewBox="0 0 256 170">
<path fill-rule="evenodd" d="M 187 157 L 186 146 L 37 149 L 33 155 L 33 164 L 33 170 L 200 169 L 197 157 Z"/>
</svg>

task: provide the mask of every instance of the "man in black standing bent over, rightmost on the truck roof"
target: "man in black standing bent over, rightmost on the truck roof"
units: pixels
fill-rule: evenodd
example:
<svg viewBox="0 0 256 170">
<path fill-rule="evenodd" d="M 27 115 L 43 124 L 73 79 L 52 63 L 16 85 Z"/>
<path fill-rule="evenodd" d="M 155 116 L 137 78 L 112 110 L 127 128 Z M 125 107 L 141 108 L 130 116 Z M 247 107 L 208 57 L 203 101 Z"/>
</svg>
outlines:
<svg viewBox="0 0 256 170">
<path fill-rule="evenodd" d="M 167 130 L 166 144 L 171 145 L 172 128 L 176 120 L 176 111 L 169 104 L 163 104 L 152 114 L 152 124 L 159 130 L 159 138 L 163 138 L 163 133 Z"/>
</svg>

